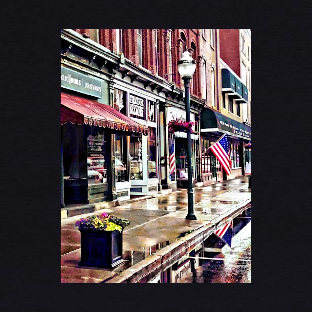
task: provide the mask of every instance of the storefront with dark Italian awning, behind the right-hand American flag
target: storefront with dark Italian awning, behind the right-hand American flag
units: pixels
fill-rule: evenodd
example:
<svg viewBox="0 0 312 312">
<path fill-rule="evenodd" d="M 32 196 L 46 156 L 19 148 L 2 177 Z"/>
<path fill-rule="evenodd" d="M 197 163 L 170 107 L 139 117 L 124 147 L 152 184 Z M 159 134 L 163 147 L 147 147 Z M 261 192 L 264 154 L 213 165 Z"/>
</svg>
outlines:
<svg viewBox="0 0 312 312">
<path fill-rule="evenodd" d="M 231 174 L 227 176 L 209 147 L 224 133 L 230 141 Z M 251 142 L 251 127 L 205 108 L 201 114 L 201 165 L 204 185 L 245 174 L 245 146 Z M 250 156 L 250 154 L 248 154 Z M 251 156 L 250 156 L 251 157 Z"/>
</svg>

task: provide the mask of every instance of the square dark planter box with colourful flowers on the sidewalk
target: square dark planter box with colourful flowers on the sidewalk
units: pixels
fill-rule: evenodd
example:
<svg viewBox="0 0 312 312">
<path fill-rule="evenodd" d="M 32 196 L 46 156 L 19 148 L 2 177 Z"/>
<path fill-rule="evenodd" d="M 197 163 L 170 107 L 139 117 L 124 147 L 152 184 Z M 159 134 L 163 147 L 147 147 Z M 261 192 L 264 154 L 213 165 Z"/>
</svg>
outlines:
<svg viewBox="0 0 312 312">
<path fill-rule="evenodd" d="M 81 247 L 79 266 L 111 269 L 124 263 L 122 230 L 129 224 L 129 220 L 108 213 L 77 221 L 75 225 L 80 231 Z"/>
</svg>

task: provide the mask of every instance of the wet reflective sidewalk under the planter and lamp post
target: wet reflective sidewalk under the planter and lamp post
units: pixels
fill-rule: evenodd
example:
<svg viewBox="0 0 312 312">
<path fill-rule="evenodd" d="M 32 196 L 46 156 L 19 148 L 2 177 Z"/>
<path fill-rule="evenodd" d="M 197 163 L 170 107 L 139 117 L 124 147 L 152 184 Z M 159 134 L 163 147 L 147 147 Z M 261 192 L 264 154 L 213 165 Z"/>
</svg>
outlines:
<svg viewBox="0 0 312 312">
<path fill-rule="evenodd" d="M 128 272 L 131 266 L 139 267 L 142 260 L 149 259 L 149 256 L 152 261 L 151 257 L 157 251 L 176 242 L 185 233 L 204 226 L 212 228 L 236 213 L 240 206 L 251 202 L 251 189 L 248 189 L 248 178 L 245 176 L 193 190 L 197 220 L 185 219 L 187 189 L 61 219 L 61 282 L 118 282 L 114 277 Z M 111 212 L 130 220 L 130 226 L 123 231 L 123 258 L 127 261 L 111 270 L 79 267 L 80 232 L 75 222 L 86 215 L 102 212 Z"/>
</svg>

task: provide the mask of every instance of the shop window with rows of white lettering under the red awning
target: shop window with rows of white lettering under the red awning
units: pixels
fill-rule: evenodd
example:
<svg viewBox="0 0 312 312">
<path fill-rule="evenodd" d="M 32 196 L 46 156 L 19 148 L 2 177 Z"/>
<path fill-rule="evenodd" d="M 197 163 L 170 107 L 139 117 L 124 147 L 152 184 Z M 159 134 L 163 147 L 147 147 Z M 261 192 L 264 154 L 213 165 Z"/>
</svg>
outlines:
<svg viewBox="0 0 312 312">
<path fill-rule="evenodd" d="M 87 127 L 88 184 L 107 182 L 108 144 L 101 127 Z"/>
</svg>

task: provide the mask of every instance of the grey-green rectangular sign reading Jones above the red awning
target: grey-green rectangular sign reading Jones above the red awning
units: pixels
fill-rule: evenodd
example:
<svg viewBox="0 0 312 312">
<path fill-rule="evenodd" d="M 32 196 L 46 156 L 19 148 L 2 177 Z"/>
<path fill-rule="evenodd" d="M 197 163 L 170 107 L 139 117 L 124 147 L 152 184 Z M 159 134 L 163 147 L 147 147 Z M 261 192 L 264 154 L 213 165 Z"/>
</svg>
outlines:
<svg viewBox="0 0 312 312">
<path fill-rule="evenodd" d="M 61 87 L 102 98 L 102 80 L 61 67 Z"/>
</svg>

